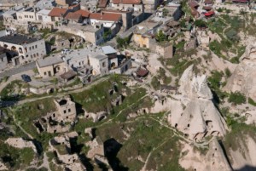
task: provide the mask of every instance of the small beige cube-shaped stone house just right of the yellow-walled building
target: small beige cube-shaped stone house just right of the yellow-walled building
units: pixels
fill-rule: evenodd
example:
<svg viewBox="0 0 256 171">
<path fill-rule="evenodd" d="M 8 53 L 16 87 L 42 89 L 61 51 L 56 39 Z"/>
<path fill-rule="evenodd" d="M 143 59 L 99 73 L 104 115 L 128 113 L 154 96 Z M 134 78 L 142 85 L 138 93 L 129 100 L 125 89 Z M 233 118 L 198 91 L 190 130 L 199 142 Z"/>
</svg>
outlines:
<svg viewBox="0 0 256 171">
<path fill-rule="evenodd" d="M 160 54 L 164 58 L 172 58 L 173 56 L 173 45 L 169 42 L 158 43 L 155 48 L 155 52 Z"/>
</svg>

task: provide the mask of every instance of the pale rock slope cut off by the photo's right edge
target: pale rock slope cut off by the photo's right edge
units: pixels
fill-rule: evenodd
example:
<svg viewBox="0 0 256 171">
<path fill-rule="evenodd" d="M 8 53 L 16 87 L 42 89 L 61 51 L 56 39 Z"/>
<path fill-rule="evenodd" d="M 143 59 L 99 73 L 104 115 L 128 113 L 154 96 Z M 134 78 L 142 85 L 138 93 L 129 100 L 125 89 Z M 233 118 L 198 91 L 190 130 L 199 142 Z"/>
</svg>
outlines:
<svg viewBox="0 0 256 171">
<path fill-rule="evenodd" d="M 256 45 L 248 46 L 241 57 L 241 63 L 228 80 L 224 90 L 241 92 L 256 100 Z"/>
</svg>

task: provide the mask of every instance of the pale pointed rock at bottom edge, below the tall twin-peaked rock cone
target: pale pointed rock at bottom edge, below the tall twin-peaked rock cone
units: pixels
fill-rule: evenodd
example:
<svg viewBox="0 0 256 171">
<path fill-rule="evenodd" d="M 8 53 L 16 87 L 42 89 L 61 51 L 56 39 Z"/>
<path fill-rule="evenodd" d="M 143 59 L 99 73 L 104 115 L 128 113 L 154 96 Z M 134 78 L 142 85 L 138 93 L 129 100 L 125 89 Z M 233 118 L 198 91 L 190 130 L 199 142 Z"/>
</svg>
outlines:
<svg viewBox="0 0 256 171">
<path fill-rule="evenodd" d="M 218 143 L 218 140 L 214 139 L 209 145 L 209 150 L 207 153 L 201 154 L 196 151 L 190 145 L 184 145 L 184 154 L 179 159 L 179 164 L 186 170 L 195 171 L 231 171 L 230 164 L 224 155 L 224 151 Z M 203 164 L 202 164 L 203 163 Z"/>
</svg>

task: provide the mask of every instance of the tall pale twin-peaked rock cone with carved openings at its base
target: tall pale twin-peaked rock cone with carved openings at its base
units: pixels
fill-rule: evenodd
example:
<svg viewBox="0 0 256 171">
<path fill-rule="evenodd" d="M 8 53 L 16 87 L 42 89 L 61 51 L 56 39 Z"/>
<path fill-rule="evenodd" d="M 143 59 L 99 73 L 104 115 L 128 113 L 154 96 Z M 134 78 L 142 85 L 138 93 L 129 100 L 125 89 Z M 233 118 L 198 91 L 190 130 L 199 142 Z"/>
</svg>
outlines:
<svg viewBox="0 0 256 171">
<path fill-rule="evenodd" d="M 195 76 L 193 66 L 189 66 L 180 79 L 178 91 L 183 110 L 176 109 L 178 104 L 171 109 L 168 121 L 173 127 L 195 141 L 208 135 L 224 136 L 227 127 L 212 102 L 206 76 Z"/>
</svg>

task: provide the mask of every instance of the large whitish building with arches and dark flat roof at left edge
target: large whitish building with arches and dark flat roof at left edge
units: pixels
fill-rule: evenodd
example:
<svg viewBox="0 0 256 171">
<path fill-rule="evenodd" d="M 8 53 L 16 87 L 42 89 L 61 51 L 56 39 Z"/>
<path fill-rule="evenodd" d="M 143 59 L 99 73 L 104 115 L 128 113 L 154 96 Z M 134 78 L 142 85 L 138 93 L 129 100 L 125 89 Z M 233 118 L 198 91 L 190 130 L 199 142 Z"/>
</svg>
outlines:
<svg viewBox="0 0 256 171">
<path fill-rule="evenodd" d="M 18 54 L 13 62 L 14 66 L 38 60 L 46 54 L 44 39 L 20 34 L 0 37 L 0 46 Z"/>
</svg>

